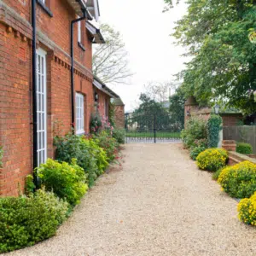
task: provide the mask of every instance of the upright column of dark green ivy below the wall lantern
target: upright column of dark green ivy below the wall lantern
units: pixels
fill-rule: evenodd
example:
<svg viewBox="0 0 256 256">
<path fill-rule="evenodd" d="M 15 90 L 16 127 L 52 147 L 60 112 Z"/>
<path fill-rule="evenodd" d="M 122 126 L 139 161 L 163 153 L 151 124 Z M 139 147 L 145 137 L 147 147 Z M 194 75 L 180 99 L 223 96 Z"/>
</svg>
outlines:
<svg viewBox="0 0 256 256">
<path fill-rule="evenodd" d="M 219 131 L 222 127 L 222 118 L 217 114 L 212 114 L 207 121 L 207 139 L 208 139 L 208 148 L 217 148 Z"/>
</svg>

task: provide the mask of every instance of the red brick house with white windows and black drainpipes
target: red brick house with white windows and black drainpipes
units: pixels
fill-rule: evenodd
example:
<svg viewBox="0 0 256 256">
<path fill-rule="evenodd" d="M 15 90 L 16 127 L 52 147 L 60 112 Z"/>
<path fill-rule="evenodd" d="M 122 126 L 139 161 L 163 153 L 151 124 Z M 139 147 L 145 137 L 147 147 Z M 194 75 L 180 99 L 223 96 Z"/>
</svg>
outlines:
<svg viewBox="0 0 256 256">
<path fill-rule="evenodd" d="M 56 123 L 62 134 L 71 124 L 86 133 L 96 105 L 108 114 L 115 95 L 92 74 L 92 44 L 104 43 L 90 23 L 98 17 L 97 0 L 0 0 L 0 196 L 18 195 L 26 175 L 54 157 Z"/>
</svg>

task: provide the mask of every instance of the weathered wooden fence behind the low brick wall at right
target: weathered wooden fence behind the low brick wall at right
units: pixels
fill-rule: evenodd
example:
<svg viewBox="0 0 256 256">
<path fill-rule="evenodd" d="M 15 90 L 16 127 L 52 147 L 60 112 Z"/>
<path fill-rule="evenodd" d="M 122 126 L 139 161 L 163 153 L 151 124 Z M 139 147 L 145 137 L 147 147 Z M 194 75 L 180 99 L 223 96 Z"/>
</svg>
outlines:
<svg viewBox="0 0 256 256">
<path fill-rule="evenodd" d="M 253 154 L 256 154 L 256 126 L 224 126 L 223 139 L 250 143 L 253 146 Z"/>
</svg>

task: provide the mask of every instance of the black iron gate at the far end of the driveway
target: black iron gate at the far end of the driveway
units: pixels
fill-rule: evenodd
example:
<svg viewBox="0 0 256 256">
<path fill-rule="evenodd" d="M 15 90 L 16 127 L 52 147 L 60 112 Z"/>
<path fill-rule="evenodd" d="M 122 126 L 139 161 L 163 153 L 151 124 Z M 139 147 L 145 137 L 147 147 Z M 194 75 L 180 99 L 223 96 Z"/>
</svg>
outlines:
<svg viewBox="0 0 256 256">
<path fill-rule="evenodd" d="M 183 122 L 168 114 L 148 113 L 125 116 L 126 143 L 171 143 L 181 141 Z"/>
</svg>

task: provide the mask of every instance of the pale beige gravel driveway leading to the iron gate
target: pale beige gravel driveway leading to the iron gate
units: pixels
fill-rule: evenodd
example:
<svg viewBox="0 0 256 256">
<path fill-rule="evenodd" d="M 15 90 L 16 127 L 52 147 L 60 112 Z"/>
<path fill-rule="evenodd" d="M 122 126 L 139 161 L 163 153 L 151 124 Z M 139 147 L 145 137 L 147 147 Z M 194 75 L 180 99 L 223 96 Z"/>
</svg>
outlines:
<svg viewBox="0 0 256 256">
<path fill-rule="evenodd" d="M 250 256 L 256 228 L 180 144 L 129 144 L 57 236 L 9 255 Z"/>
</svg>

